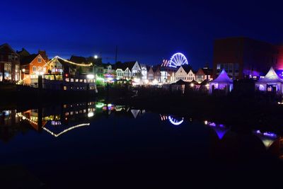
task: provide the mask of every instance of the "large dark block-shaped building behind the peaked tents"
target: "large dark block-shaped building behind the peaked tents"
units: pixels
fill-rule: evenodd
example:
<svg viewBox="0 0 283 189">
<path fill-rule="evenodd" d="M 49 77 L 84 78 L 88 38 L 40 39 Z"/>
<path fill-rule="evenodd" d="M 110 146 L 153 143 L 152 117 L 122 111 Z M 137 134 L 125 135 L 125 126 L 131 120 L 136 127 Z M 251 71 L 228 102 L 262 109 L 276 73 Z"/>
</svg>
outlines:
<svg viewBox="0 0 283 189">
<path fill-rule="evenodd" d="M 225 69 L 232 79 L 264 76 L 270 67 L 283 68 L 281 46 L 250 38 L 224 38 L 214 42 L 214 78 Z"/>
</svg>

